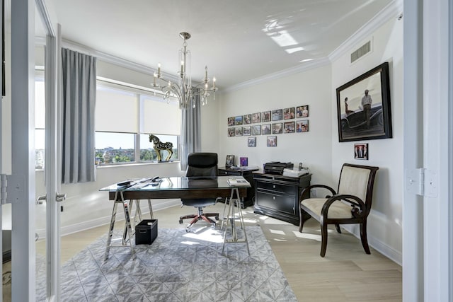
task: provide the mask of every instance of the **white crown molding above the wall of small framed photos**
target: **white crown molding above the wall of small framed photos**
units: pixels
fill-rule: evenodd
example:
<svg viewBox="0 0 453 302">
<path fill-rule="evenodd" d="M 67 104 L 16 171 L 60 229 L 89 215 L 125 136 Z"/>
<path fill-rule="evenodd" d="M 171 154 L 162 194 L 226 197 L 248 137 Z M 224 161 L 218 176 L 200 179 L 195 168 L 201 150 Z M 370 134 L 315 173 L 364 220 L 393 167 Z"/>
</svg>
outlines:
<svg viewBox="0 0 453 302">
<path fill-rule="evenodd" d="M 249 81 L 245 81 L 245 82 L 239 83 L 237 85 L 231 86 L 229 88 L 225 88 L 225 89 L 222 90 L 222 93 L 229 93 L 231 91 L 238 91 L 240 89 L 243 89 L 243 88 L 246 88 L 246 87 L 249 87 L 249 86 L 254 86 L 254 85 L 257 85 L 259 83 L 264 83 L 264 82 L 272 81 L 272 80 L 275 80 L 275 79 L 280 79 L 280 78 L 282 78 L 284 76 L 290 76 L 292 74 L 299 74 L 299 73 L 301 73 L 303 71 L 307 71 L 309 69 L 319 68 L 321 66 L 326 66 L 328 64 L 331 64 L 331 62 L 328 60 L 328 58 L 315 59 L 315 60 L 313 60 L 311 62 L 306 62 L 304 64 L 301 64 L 301 65 L 298 65 L 298 66 L 295 66 L 295 67 L 291 67 L 289 69 L 284 69 L 282 71 L 274 72 L 273 74 L 267 74 L 265 76 L 260 76 L 259 78 L 252 79 L 252 80 L 249 80 Z"/>
</svg>

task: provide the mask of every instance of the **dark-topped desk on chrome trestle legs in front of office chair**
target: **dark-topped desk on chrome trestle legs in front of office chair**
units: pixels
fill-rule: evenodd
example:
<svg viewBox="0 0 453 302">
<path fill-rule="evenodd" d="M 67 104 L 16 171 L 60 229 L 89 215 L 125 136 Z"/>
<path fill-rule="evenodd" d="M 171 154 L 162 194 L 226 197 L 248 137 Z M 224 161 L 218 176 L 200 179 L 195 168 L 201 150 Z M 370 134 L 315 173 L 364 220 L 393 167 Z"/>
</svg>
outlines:
<svg viewBox="0 0 453 302">
<path fill-rule="evenodd" d="M 118 187 L 117 184 L 110 185 L 108 187 L 103 187 L 100 191 L 108 192 L 109 200 L 113 200 L 113 211 L 112 217 L 110 219 L 110 229 L 108 232 L 107 239 L 107 248 L 105 249 L 105 260 L 108 259 L 110 252 L 111 241 L 113 236 L 113 227 L 115 226 L 116 210 L 117 204 L 122 204 L 123 210 L 125 212 L 125 232 L 123 233 L 122 245 L 126 243 L 126 236 L 128 236 L 129 245 L 131 248 L 132 258 L 135 259 L 135 252 L 132 246 L 132 226 L 130 223 L 130 208 L 133 204 L 133 200 L 139 199 L 160 199 L 160 198 L 216 198 L 216 197 L 229 197 L 231 207 L 234 207 L 236 203 L 239 203 L 239 197 L 244 196 L 247 193 L 247 188 L 251 187 L 240 186 L 232 187 L 228 184 L 227 180 L 229 178 L 239 178 L 242 177 L 236 176 L 219 176 L 217 178 L 187 178 L 187 177 L 174 177 L 174 178 L 161 178 L 157 183 L 155 182 L 139 182 L 139 180 L 131 180 L 129 186 Z M 236 195 L 235 195 L 236 194 Z M 129 204 L 127 204 L 129 200 Z M 229 211 L 229 213 L 231 210 Z M 240 218 L 241 207 L 239 207 Z M 232 211 L 234 214 L 234 210 Z M 230 218 L 230 217 L 229 217 Z M 234 221 L 234 216 L 232 219 L 227 219 Z M 241 221 L 241 226 L 243 226 L 243 219 Z M 234 223 L 231 223 L 231 228 L 234 227 Z M 226 229 L 226 228 L 225 228 Z M 241 242 L 234 238 L 234 242 Z M 224 240 L 224 243 L 233 242 L 231 240 Z M 244 241 L 246 242 L 246 240 Z M 247 245 L 248 248 L 248 245 Z"/>
</svg>

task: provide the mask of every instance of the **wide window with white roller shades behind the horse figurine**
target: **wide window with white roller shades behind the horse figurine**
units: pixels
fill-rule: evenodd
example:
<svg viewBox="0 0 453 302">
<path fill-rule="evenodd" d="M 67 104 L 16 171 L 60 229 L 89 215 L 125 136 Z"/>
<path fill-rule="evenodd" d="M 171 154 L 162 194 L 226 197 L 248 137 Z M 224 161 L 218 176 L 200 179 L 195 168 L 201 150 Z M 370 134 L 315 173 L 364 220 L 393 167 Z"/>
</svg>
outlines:
<svg viewBox="0 0 453 302">
<path fill-rule="evenodd" d="M 137 88 L 98 81 L 96 95 L 96 165 L 156 161 L 149 134 L 173 144 L 178 160 L 181 112 L 178 103 Z M 162 159 L 168 156 L 161 151 Z"/>
</svg>

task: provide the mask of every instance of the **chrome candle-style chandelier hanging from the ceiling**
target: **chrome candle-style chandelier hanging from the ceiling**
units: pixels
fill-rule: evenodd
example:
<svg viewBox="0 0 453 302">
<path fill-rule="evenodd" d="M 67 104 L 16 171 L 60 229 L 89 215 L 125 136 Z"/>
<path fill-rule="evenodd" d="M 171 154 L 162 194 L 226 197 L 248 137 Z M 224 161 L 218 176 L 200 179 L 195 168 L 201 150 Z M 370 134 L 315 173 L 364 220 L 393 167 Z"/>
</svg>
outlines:
<svg viewBox="0 0 453 302">
<path fill-rule="evenodd" d="M 212 93 L 212 99 L 215 100 L 215 78 L 212 79 L 212 86 L 209 87 L 210 79 L 207 77 L 207 66 L 205 66 L 205 79 L 201 83 L 192 86 L 192 76 L 190 76 L 190 50 L 187 49 L 187 40 L 190 39 L 190 33 L 180 33 L 183 38 L 183 48 L 179 50 L 180 71 L 178 71 L 178 83 L 166 80 L 161 75 L 161 64 L 158 64 L 157 71 L 154 72 L 153 88 L 159 89 L 163 93 L 164 100 L 169 101 L 171 96 L 178 98 L 179 108 L 195 108 L 195 98 L 200 96 L 202 105 L 207 104 L 207 99 Z"/>
</svg>

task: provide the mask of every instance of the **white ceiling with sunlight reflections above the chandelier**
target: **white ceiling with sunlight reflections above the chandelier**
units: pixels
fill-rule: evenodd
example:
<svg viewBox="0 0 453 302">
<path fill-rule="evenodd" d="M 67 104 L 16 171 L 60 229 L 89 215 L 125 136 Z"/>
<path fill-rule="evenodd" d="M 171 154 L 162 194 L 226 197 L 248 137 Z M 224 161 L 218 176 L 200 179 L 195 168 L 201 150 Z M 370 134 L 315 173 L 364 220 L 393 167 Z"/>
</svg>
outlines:
<svg viewBox="0 0 453 302">
<path fill-rule="evenodd" d="M 190 33 L 193 81 L 207 65 L 222 89 L 326 59 L 392 0 L 53 2 L 64 40 L 168 74 Z"/>
</svg>

